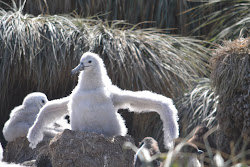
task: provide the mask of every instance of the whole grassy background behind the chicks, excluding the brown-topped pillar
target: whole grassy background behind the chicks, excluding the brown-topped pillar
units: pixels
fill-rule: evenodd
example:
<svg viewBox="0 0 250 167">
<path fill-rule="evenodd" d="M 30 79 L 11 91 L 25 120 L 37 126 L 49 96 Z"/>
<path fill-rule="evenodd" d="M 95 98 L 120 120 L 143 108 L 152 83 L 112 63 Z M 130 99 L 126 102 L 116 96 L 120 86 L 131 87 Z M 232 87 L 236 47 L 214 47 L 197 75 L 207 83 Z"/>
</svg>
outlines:
<svg viewBox="0 0 250 167">
<path fill-rule="evenodd" d="M 223 40 L 247 37 L 250 27 L 250 0 L 2 0 L 0 7 L 1 128 L 32 91 L 50 100 L 69 95 L 77 83 L 69 71 L 88 50 L 119 87 L 173 98 L 181 136 L 214 127 L 209 61 Z M 157 114 L 120 112 L 136 143 L 152 136 L 163 148 Z"/>
</svg>

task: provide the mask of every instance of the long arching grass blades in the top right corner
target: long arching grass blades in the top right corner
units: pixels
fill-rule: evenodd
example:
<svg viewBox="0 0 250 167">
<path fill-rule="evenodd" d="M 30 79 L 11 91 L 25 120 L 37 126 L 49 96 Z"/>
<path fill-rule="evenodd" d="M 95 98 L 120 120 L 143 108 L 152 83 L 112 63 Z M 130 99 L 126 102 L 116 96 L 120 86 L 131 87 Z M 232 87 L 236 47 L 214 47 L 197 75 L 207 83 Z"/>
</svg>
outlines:
<svg viewBox="0 0 250 167">
<path fill-rule="evenodd" d="M 191 0 L 205 2 L 193 8 L 193 15 L 203 17 L 194 22 L 200 22 L 195 31 L 207 27 L 210 29 L 207 39 L 221 42 L 247 37 L 250 33 L 250 0 Z"/>
</svg>

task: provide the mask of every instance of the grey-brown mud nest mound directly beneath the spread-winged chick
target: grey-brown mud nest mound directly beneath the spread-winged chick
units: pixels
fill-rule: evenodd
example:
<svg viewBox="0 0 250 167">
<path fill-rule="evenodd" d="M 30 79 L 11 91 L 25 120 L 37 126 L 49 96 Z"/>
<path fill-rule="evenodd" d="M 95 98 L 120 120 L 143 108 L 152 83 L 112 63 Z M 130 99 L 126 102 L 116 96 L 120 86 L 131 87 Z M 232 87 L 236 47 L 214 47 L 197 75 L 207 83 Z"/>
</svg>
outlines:
<svg viewBox="0 0 250 167">
<path fill-rule="evenodd" d="M 96 133 L 64 130 L 49 145 L 53 167 L 133 166 L 134 152 L 123 149 L 130 136 L 105 137 Z"/>
</svg>

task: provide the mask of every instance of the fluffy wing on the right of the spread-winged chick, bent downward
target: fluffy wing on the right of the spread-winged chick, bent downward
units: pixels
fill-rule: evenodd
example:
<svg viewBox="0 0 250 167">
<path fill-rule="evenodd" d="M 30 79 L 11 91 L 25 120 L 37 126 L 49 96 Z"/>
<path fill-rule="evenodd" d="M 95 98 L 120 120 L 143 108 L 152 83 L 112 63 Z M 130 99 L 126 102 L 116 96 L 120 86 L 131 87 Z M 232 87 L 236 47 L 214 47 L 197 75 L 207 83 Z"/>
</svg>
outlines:
<svg viewBox="0 0 250 167">
<path fill-rule="evenodd" d="M 173 141 L 179 136 L 177 109 L 170 98 L 150 91 L 121 90 L 116 86 L 111 89 L 112 101 L 116 109 L 129 109 L 134 112 L 157 112 L 163 121 L 164 144 L 173 147 Z"/>
</svg>

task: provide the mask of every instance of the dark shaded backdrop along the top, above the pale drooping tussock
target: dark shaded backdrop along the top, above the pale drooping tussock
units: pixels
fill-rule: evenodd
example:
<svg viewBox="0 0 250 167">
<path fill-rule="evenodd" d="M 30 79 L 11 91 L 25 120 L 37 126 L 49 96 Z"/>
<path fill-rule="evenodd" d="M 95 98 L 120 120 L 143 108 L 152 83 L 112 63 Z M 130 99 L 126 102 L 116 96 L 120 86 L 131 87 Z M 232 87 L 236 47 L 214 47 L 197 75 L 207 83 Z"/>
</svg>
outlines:
<svg viewBox="0 0 250 167">
<path fill-rule="evenodd" d="M 2 1 L 12 5 L 11 0 Z M 14 1 L 23 4 L 25 0 Z M 130 24 L 143 23 L 141 28 L 167 28 L 171 33 L 187 34 L 197 25 L 186 26 L 192 18 L 184 11 L 198 4 L 189 0 L 33 0 L 26 1 L 23 11 L 36 16 L 66 13 L 77 13 L 81 17 L 98 15 L 102 20 L 126 20 Z"/>
</svg>

